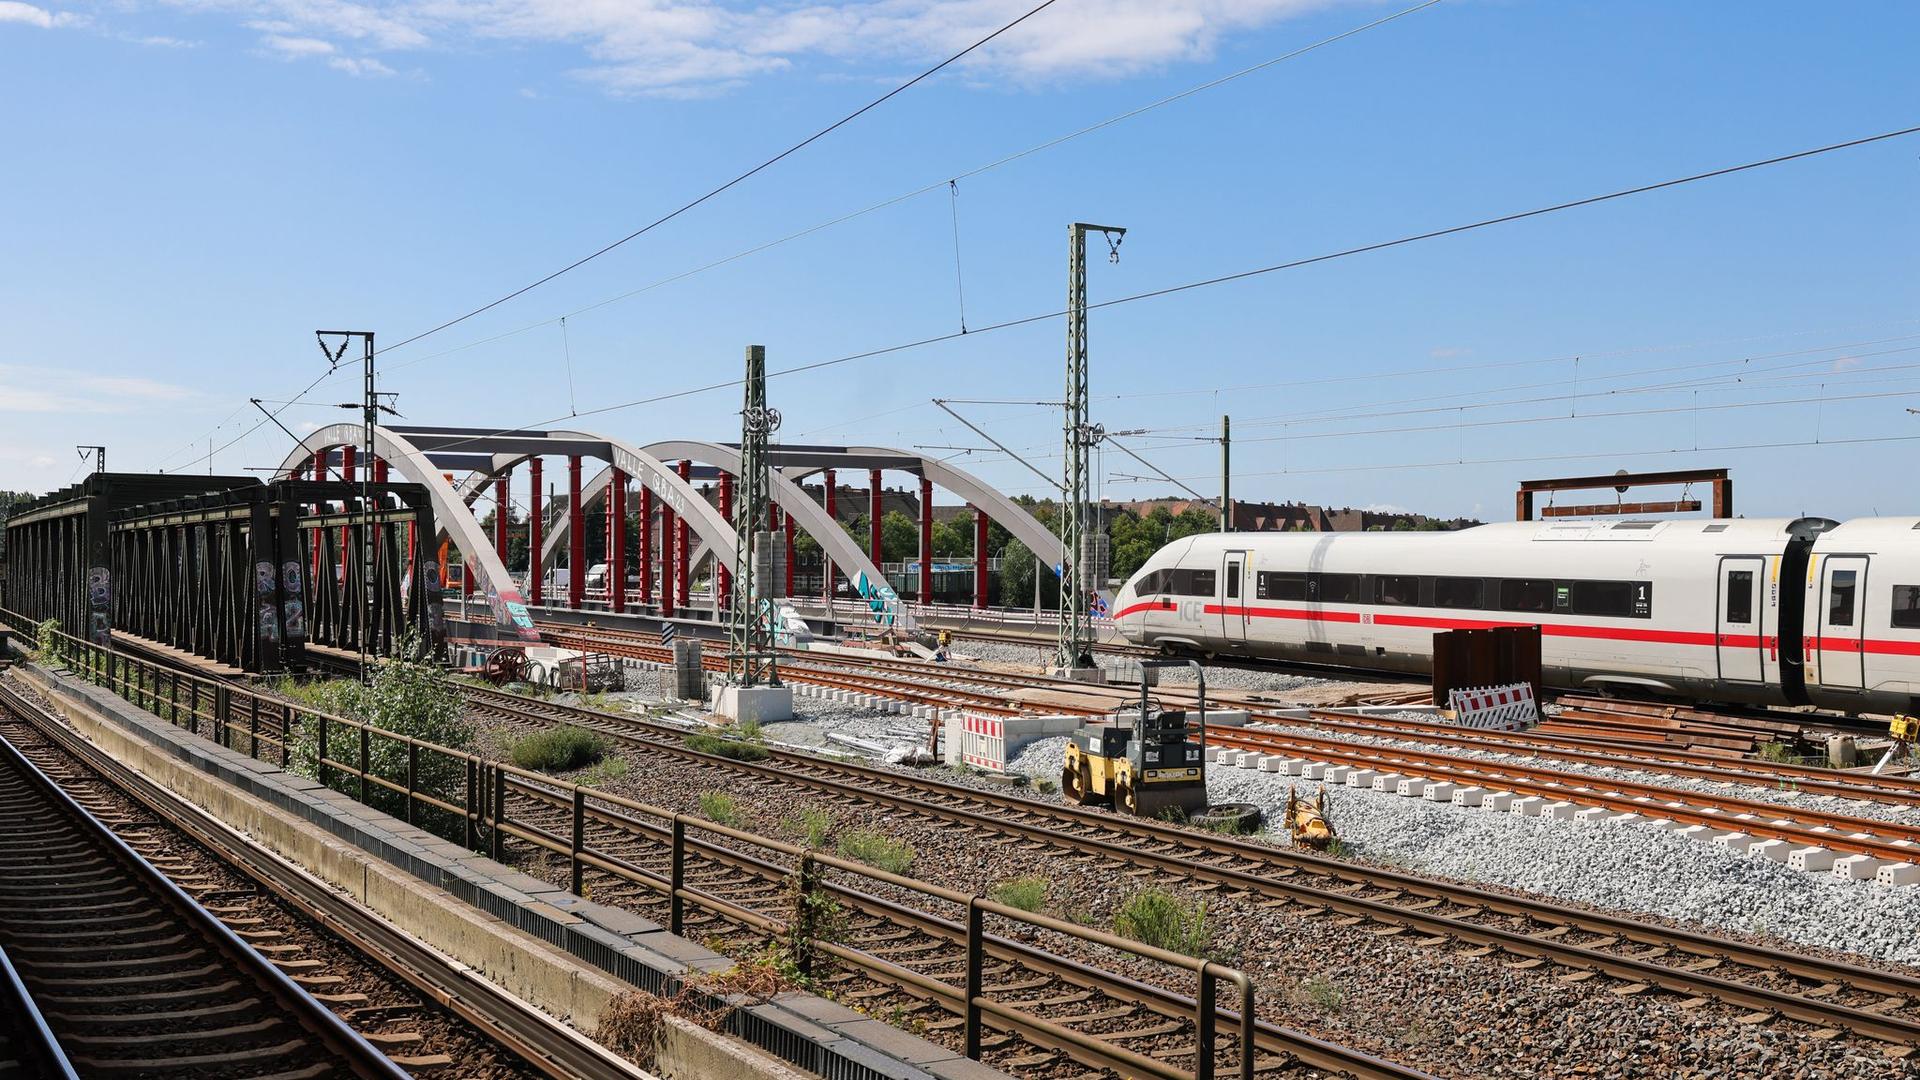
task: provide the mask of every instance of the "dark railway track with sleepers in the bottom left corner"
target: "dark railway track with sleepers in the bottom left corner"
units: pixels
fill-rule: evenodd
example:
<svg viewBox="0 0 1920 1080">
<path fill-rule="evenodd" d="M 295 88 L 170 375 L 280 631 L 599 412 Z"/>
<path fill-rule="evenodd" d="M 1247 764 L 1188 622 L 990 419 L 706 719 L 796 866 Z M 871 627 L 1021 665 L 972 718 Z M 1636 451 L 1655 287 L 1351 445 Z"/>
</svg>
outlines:
<svg viewBox="0 0 1920 1080">
<path fill-rule="evenodd" d="M 407 1076 L 217 911 L 0 740 L 0 949 L 56 1074 Z"/>
</svg>

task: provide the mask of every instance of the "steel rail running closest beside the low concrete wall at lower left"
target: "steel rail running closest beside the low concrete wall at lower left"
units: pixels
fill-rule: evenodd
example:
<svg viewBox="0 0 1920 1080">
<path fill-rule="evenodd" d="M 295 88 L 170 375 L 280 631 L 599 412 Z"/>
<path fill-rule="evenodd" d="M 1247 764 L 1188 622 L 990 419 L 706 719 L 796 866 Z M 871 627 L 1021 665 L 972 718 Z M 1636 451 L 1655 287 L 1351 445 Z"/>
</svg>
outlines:
<svg viewBox="0 0 1920 1080">
<path fill-rule="evenodd" d="M 79 759 L 169 826 L 207 847 L 307 919 L 340 934 L 365 957 L 420 992 L 422 997 L 467 1020 L 528 1065 L 555 1078 L 616 1080 L 639 1076 L 630 1063 L 609 1049 L 563 1028 L 545 1013 L 528 1007 L 478 972 L 449 965 L 432 947 L 353 903 L 313 874 L 261 849 L 211 813 L 115 761 L 15 690 L 0 686 L 0 707 L 21 715 L 63 753 Z"/>
</svg>

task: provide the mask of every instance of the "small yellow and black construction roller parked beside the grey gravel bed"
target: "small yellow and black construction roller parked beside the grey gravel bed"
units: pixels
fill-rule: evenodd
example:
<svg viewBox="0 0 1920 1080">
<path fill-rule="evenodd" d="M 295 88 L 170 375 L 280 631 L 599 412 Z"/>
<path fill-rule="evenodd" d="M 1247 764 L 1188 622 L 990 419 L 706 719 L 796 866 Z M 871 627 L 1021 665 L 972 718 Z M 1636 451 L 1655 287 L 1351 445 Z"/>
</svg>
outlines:
<svg viewBox="0 0 1920 1080">
<path fill-rule="evenodd" d="M 1198 676 L 1196 713 L 1162 709 L 1148 698 L 1158 669 L 1188 663 Z M 1187 738 L 1187 721 L 1198 738 Z M 1206 673 L 1194 661 L 1140 661 L 1140 700 L 1089 721 L 1068 740 L 1060 792 L 1083 805 L 1112 803 L 1135 817 L 1167 811 L 1196 815 L 1206 809 Z"/>
</svg>

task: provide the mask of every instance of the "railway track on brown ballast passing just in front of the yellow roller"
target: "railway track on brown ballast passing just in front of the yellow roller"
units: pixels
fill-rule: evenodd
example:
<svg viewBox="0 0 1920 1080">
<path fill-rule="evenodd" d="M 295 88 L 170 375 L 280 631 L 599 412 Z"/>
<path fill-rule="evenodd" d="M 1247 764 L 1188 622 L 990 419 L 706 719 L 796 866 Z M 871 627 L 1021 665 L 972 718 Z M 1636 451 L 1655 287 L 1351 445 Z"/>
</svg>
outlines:
<svg viewBox="0 0 1920 1080">
<path fill-rule="evenodd" d="M 732 761 L 682 746 L 684 730 L 672 724 L 637 717 L 482 690 L 472 694 L 472 703 L 495 719 L 524 723 L 536 717 L 588 726 L 701 769 L 804 786 L 824 798 L 1044 846 L 1052 859 L 1094 859 L 1119 872 L 1154 872 L 1240 903 L 1294 905 L 1367 924 L 1375 934 L 1413 932 L 1423 944 L 1503 955 L 1521 967 L 1555 965 L 1569 978 L 1601 980 L 1596 990 L 1605 986 L 1619 995 L 1670 992 L 1720 1003 L 1747 1022 L 1786 1019 L 1818 1032 L 1920 1045 L 1920 1020 L 1899 1011 L 1920 997 L 1920 978 L 1905 972 L 810 755 L 770 751 L 762 763 Z"/>
</svg>

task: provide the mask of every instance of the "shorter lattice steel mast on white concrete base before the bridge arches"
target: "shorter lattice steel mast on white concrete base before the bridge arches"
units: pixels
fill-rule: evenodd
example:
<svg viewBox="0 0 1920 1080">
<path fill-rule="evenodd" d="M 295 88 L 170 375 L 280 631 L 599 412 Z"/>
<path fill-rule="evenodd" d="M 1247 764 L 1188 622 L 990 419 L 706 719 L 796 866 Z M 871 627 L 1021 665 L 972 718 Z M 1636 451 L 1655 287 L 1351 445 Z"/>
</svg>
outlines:
<svg viewBox="0 0 1920 1080">
<path fill-rule="evenodd" d="M 733 590 L 728 603 L 726 671 L 733 686 L 780 686 L 774 648 L 774 536 L 764 530 L 768 436 L 780 409 L 766 407 L 766 346 L 747 346 L 747 396 L 739 411 L 739 488 L 733 496 Z M 760 563 L 766 565 L 760 565 Z"/>
</svg>

